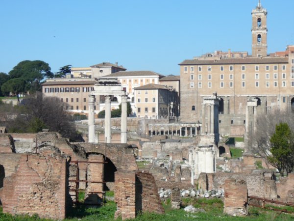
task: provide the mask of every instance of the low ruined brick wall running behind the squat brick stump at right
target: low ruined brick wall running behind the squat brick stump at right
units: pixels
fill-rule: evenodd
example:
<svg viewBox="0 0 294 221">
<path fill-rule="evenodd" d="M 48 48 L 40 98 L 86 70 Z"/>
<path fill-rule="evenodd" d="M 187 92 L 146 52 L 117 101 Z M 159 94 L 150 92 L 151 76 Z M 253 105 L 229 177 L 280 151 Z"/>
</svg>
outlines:
<svg viewBox="0 0 294 221">
<path fill-rule="evenodd" d="M 198 187 L 204 190 L 224 189 L 225 180 L 245 180 L 248 188 L 248 195 L 265 198 L 276 198 L 277 188 L 275 180 L 266 177 L 263 173 L 201 173 L 198 178 Z"/>
</svg>

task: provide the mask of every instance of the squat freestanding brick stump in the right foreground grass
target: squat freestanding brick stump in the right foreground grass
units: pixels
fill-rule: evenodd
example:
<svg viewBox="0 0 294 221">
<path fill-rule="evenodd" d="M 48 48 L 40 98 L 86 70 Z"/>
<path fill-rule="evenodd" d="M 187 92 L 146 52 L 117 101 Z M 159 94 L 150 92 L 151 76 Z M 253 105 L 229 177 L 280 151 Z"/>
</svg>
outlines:
<svg viewBox="0 0 294 221">
<path fill-rule="evenodd" d="M 247 185 L 244 180 L 227 179 L 224 182 L 224 213 L 231 216 L 245 216 Z"/>
</svg>

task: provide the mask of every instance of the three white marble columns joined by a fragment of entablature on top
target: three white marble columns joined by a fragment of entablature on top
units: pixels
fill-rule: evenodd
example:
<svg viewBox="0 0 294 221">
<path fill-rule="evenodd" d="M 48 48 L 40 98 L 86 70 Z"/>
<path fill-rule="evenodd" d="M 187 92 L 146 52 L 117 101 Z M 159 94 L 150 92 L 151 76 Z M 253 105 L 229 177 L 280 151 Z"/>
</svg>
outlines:
<svg viewBox="0 0 294 221">
<path fill-rule="evenodd" d="M 104 137 L 106 143 L 111 143 L 111 96 L 122 97 L 122 116 L 121 116 L 121 143 L 127 142 L 127 94 L 123 91 L 122 84 L 114 78 L 100 78 L 94 85 L 94 91 L 89 95 L 89 120 L 88 137 L 89 143 L 98 143 L 98 137 L 95 133 L 95 96 L 105 96 L 105 123 Z"/>
</svg>

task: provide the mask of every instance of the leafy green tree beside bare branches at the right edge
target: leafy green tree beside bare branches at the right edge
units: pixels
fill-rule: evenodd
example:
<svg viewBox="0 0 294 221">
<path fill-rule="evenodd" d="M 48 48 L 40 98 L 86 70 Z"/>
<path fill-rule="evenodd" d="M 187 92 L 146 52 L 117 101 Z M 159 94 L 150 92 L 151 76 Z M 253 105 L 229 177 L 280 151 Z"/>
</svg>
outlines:
<svg viewBox="0 0 294 221">
<path fill-rule="evenodd" d="M 277 124 L 275 133 L 270 138 L 269 163 L 276 167 L 281 175 L 288 176 L 294 169 L 293 133 L 287 123 Z"/>
</svg>

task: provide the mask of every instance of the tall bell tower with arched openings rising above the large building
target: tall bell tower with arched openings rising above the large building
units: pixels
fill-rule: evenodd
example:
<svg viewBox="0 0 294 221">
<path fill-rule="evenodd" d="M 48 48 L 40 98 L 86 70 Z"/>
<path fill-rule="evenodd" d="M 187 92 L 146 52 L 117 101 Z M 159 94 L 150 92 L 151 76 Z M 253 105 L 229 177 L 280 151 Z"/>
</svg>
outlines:
<svg viewBox="0 0 294 221">
<path fill-rule="evenodd" d="M 267 56 L 267 9 L 261 6 L 259 0 L 256 8 L 252 10 L 252 56 L 260 57 Z"/>
</svg>

